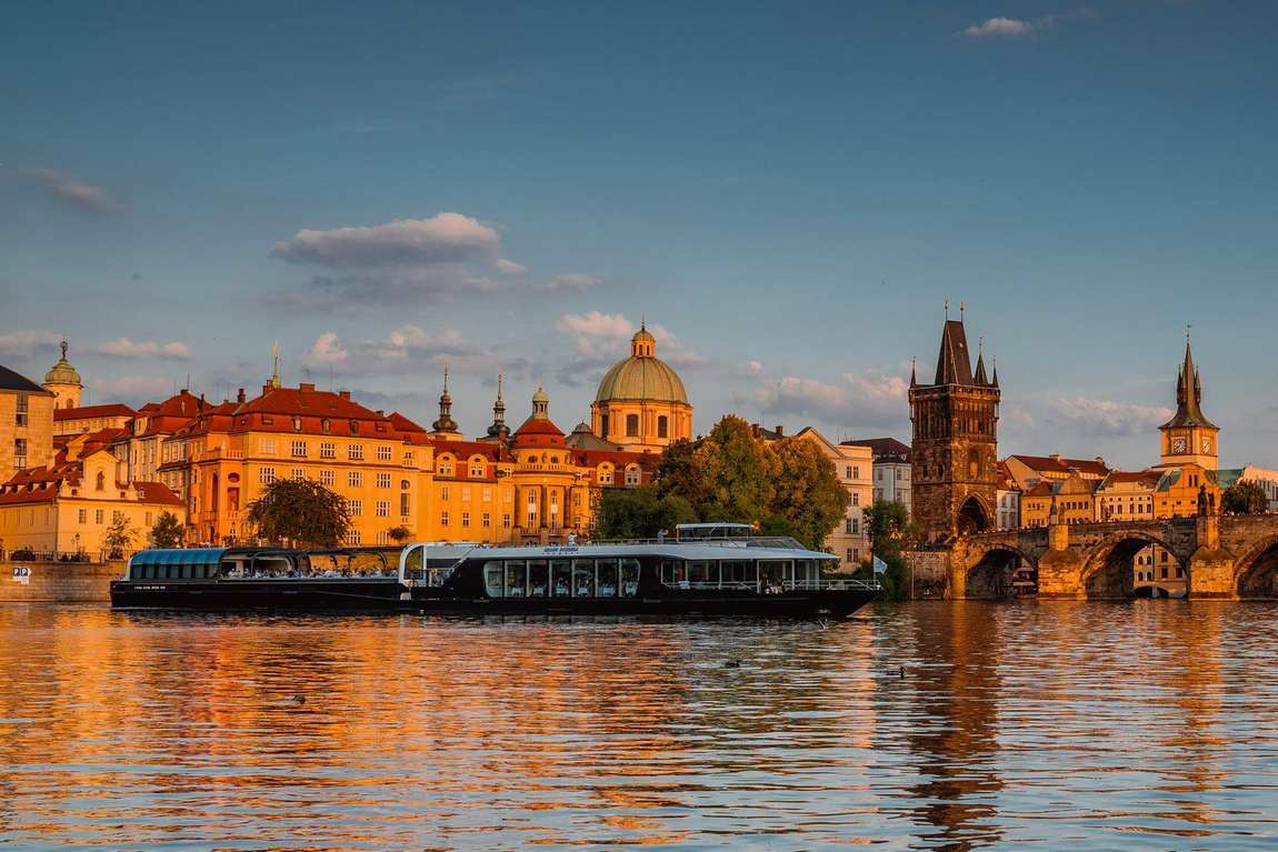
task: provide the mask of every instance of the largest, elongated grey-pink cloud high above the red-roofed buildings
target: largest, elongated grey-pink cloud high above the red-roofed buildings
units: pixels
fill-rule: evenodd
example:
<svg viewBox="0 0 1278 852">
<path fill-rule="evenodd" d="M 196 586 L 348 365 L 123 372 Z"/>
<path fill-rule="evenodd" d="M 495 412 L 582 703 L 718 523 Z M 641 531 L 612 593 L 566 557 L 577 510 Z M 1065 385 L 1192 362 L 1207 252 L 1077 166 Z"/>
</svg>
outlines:
<svg viewBox="0 0 1278 852">
<path fill-rule="evenodd" d="M 372 227 L 298 231 L 276 243 L 272 257 L 328 268 L 386 267 L 465 261 L 497 250 L 497 231 L 461 213 L 399 218 Z"/>
</svg>

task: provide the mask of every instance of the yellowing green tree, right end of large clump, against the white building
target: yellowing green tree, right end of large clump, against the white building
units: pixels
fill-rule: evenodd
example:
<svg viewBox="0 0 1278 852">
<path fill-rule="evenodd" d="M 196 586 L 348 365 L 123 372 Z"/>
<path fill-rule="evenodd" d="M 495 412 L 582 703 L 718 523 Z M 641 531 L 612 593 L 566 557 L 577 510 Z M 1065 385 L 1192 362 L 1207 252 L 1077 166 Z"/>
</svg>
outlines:
<svg viewBox="0 0 1278 852">
<path fill-rule="evenodd" d="M 843 521 L 851 497 L 835 462 L 814 441 L 786 438 L 766 448 L 773 516 L 785 519 L 805 547 L 819 551 Z"/>
</svg>

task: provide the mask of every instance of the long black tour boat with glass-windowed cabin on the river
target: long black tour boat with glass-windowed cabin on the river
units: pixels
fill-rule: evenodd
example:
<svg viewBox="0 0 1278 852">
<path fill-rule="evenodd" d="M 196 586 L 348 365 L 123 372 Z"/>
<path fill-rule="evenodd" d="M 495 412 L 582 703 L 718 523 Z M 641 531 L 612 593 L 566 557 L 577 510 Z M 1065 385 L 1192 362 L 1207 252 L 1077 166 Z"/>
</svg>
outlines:
<svg viewBox="0 0 1278 852">
<path fill-rule="evenodd" d="M 111 584 L 118 608 L 400 611 L 440 614 L 843 618 L 877 585 L 822 576 L 837 557 L 739 524 L 675 538 L 550 545 L 143 551 Z"/>
</svg>

